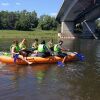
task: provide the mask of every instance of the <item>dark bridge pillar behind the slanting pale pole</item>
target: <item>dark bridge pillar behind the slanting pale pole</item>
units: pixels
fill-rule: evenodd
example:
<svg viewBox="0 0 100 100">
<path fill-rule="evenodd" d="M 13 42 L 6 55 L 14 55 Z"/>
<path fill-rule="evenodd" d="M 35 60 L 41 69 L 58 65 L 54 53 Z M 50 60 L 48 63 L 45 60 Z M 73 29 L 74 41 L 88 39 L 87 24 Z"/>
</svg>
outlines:
<svg viewBox="0 0 100 100">
<path fill-rule="evenodd" d="M 84 37 L 91 37 L 93 36 L 92 33 L 95 34 L 95 22 L 92 22 L 92 21 L 88 21 L 88 22 L 83 22 L 82 24 L 83 26 L 83 36 Z"/>
</svg>

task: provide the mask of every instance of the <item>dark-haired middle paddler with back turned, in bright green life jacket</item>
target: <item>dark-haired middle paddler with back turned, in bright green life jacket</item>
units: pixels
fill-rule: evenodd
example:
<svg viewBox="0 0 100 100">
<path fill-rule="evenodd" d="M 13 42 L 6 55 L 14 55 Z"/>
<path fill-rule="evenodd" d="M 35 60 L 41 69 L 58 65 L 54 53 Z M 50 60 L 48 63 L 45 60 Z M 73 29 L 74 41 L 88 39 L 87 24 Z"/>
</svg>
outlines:
<svg viewBox="0 0 100 100">
<path fill-rule="evenodd" d="M 46 43 L 45 43 L 45 40 L 43 40 L 41 42 L 41 44 L 39 44 L 38 46 L 38 56 L 41 56 L 41 57 L 48 57 L 50 56 L 50 52 L 49 52 L 49 49 L 47 48 L 46 46 Z"/>
</svg>

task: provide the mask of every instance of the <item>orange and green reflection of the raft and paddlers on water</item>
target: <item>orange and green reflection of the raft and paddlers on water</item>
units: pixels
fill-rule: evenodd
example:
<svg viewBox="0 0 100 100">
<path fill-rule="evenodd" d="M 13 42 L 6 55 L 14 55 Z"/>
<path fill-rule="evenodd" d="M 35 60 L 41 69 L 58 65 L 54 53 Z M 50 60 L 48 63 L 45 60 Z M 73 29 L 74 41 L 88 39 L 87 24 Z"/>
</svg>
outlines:
<svg viewBox="0 0 100 100">
<path fill-rule="evenodd" d="M 25 80 L 30 76 L 36 79 L 39 83 L 41 83 L 49 68 L 50 65 L 48 64 L 37 64 L 33 66 L 19 66 L 14 64 L 3 66 L 1 74 L 3 76 L 8 74 L 11 75 L 10 80 L 12 80 L 12 82 L 16 86 L 18 86 L 20 80 Z"/>
</svg>

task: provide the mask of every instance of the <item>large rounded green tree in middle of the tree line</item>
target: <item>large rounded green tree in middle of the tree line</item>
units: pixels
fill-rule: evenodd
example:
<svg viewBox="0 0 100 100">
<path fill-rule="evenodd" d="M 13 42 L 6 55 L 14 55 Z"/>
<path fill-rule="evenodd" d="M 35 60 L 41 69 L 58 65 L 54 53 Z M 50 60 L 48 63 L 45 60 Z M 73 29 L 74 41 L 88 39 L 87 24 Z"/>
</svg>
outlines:
<svg viewBox="0 0 100 100">
<path fill-rule="evenodd" d="M 15 27 L 18 30 L 28 31 L 32 28 L 36 28 L 38 24 L 38 18 L 36 12 L 27 12 L 23 10 L 20 13 L 19 20 L 16 21 Z"/>
</svg>

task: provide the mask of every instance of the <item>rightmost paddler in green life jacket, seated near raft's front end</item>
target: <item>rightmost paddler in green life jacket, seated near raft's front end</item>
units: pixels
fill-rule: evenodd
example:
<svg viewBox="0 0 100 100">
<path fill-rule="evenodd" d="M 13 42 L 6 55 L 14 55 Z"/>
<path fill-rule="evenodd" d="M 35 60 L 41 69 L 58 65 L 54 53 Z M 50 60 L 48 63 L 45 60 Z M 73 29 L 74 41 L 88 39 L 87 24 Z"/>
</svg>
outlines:
<svg viewBox="0 0 100 100">
<path fill-rule="evenodd" d="M 62 63 L 64 63 L 64 61 L 66 60 L 67 54 L 62 52 L 62 51 L 66 51 L 62 47 L 62 44 L 63 44 L 63 41 L 59 40 L 58 44 L 54 45 L 54 55 L 58 57 L 63 57 Z"/>
</svg>

